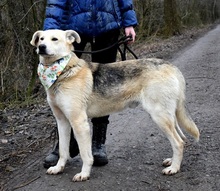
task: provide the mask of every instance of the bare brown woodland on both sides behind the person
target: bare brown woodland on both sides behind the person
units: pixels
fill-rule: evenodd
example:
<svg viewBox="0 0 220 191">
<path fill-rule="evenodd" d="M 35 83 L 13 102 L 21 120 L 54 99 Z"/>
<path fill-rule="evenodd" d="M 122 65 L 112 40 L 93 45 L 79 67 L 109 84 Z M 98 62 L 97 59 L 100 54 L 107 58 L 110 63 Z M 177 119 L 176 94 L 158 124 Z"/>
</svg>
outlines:
<svg viewBox="0 0 220 191">
<path fill-rule="evenodd" d="M 46 0 L 0 0 L 0 109 L 42 97 L 38 56 L 30 45 L 42 29 Z M 134 0 L 137 43 L 181 35 L 220 17 L 219 0 Z"/>
</svg>

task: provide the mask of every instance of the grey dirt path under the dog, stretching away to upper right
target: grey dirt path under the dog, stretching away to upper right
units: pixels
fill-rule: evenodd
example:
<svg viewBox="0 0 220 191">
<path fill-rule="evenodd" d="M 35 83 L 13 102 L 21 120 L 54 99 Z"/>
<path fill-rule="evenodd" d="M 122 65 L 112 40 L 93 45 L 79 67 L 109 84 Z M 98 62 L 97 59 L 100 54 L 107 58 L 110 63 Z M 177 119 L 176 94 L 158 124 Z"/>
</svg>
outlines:
<svg viewBox="0 0 220 191">
<path fill-rule="evenodd" d="M 187 105 L 201 140 L 186 145 L 181 172 L 164 176 L 161 163 L 171 156 L 168 140 L 141 108 L 111 115 L 107 135 L 109 164 L 93 167 L 91 179 L 71 182 L 79 157 L 63 174 L 50 176 L 42 166 L 47 150 L 12 174 L 3 190 L 19 191 L 218 191 L 220 189 L 220 26 L 175 54 L 172 62 L 187 82 Z M 46 111 L 45 111 L 46 112 Z M 39 157 L 40 156 L 40 157 Z M 1 172 L 1 176 L 3 172 Z"/>
</svg>

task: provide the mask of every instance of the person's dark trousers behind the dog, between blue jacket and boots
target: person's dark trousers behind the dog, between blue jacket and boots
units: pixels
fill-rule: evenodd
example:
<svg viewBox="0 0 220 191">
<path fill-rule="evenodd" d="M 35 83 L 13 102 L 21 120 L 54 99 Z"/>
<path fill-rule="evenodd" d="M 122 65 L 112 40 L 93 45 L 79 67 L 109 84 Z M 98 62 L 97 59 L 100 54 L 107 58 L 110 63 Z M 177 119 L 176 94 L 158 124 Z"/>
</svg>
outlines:
<svg viewBox="0 0 220 191">
<path fill-rule="evenodd" d="M 80 35 L 81 38 L 81 43 L 74 43 L 74 49 L 75 50 L 84 50 L 85 46 L 87 43 L 91 44 L 91 51 L 96 51 L 96 50 L 102 50 L 107 47 L 110 47 L 114 43 L 118 41 L 120 31 L 119 30 L 113 30 L 106 32 L 98 37 L 88 37 L 84 35 Z M 92 54 L 92 62 L 98 62 L 98 63 L 111 63 L 116 61 L 117 57 L 117 46 L 114 46 L 110 49 L 107 49 L 105 51 L 101 51 L 99 53 L 94 53 Z M 82 53 L 77 53 L 76 55 L 80 58 Z M 98 117 L 98 118 L 93 118 L 92 124 L 94 126 L 98 126 L 99 124 L 109 124 L 109 115 L 104 116 L 104 117 Z"/>
</svg>

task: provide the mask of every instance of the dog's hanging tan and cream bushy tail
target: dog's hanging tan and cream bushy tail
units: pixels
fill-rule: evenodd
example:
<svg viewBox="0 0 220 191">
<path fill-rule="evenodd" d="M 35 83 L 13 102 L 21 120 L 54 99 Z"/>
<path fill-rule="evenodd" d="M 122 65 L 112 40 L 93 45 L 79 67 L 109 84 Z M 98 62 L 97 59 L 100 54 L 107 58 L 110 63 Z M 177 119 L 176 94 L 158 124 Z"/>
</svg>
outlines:
<svg viewBox="0 0 220 191">
<path fill-rule="evenodd" d="M 183 87 L 185 87 L 185 80 L 182 77 L 181 84 Z M 177 103 L 177 109 L 176 109 L 176 118 L 178 124 L 184 128 L 190 135 L 192 135 L 196 141 L 199 141 L 199 129 L 197 128 L 195 122 L 190 117 L 189 113 L 186 111 L 185 106 L 185 88 L 182 88 L 180 99 Z"/>
</svg>

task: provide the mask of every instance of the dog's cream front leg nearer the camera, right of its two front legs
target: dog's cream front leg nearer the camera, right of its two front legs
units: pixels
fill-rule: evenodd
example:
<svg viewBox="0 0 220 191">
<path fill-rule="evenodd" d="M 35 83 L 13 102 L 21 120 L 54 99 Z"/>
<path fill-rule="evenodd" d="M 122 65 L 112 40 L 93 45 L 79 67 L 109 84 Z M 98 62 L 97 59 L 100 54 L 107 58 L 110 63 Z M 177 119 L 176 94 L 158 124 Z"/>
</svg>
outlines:
<svg viewBox="0 0 220 191">
<path fill-rule="evenodd" d="M 93 164 L 92 137 L 86 112 L 78 112 L 77 115 L 71 118 L 70 123 L 73 127 L 73 132 L 79 146 L 80 156 L 83 161 L 82 170 L 73 177 L 73 181 L 85 181 L 90 177 Z"/>
</svg>

